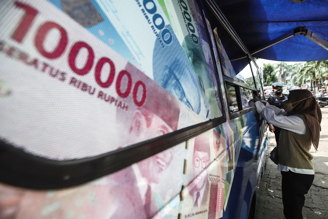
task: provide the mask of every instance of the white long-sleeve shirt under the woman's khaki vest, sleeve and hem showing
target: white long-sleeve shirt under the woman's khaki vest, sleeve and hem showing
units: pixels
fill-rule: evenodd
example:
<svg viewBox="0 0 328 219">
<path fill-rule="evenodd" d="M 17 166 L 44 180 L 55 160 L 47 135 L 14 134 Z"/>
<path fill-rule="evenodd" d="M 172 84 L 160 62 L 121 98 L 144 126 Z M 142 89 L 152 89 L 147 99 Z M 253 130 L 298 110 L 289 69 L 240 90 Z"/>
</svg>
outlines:
<svg viewBox="0 0 328 219">
<path fill-rule="evenodd" d="M 264 104 L 260 101 L 255 102 L 256 111 L 270 124 L 273 124 L 279 128 L 286 129 L 297 134 L 306 134 L 306 125 L 304 121 L 297 116 L 286 116 L 287 113 L 279 109 L 276 106 Z M 281 165 L 278 163 L 279 171 L 292 171 L 295 173 L 311 174 L 314 175 L 314 169 L 299 169 Z"/>
</svg>

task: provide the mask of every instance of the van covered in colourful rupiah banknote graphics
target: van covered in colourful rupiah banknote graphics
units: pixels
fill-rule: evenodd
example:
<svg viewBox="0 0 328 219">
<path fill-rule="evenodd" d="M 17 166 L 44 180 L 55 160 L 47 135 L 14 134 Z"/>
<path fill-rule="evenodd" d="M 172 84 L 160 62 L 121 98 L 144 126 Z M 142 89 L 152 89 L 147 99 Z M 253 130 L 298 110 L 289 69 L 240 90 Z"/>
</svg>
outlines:
<svg viewBox="0 0 328 219">
<path fill-rule="evenodd" d="M 252 213 L 262 86 L 212 2 L 0 1 L 0 218 Z"/>
</svg>

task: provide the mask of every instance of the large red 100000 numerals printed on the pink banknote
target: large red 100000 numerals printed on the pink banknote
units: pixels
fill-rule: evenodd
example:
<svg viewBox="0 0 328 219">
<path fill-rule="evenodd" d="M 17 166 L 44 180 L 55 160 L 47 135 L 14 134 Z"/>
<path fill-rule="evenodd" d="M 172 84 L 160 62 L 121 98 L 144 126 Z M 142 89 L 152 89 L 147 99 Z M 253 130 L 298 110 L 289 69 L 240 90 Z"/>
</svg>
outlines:
<svg viewBox="0 0 328 219">
<path fill-rule="evenodd" d="M 18 1 L 15 2 L 15 6 L 18 8 L 21 8 L 25 11 L 25 14 L 22 17 L 22 19 L 20 20 L 20 23 L 18 24 L 16 30 L 11 35 L 11 38 L 13 40 L 21 43 L 22 40 L 24 39 L 24 36 L 31 29 L 32 22 L 35 19 L 36 15 L 38 14 L 38 11 L 36 9 L 32 8 L 31 6 L 24 4 L 22 2 L 18 2 Z M 52 52 L 47 52 L 43 47 L 43 43 L 44 43 L 44 40 L 45 40 L 47 34 L 52 29 L 57 29 L 59 31 L 60 39 L 59 39 L 55 49 Z M 63 55 L 68 42 L 69 42 L 69 39 L 68 39 L 65 28 L 60 26 L 59 24 L 57 24 L 55 22 L 51 22 L 51 21 L 46 21 L 43 24 L 41 24 L 38 27 L 37 32 L 34 37 L 35 48 L 42 56 L 44 56 L 48 59 L 56 59 L 56 58 L 59 58 L 61 55 Z M 75 64 L 75 59 L 76 59 L 78 52 L 82 48 L 87 49 L 88 58 L 87 58 L 86 63 L 83 68 L 77 68 L 76 64 Z M 102 82 L 100 79 L 101 78 L 101 70 L 105 63 L 108 63 L 110 65 L 110 73 L 107 78 L 107 81 Z M 74 43 L 72 45 L 71 50 L 68 55 L 68 64 L 74 73 L 81 75 L 81 76 L 88 74 L 94 64 L 94 52 L 93 52 L 92 47 L 88 43 L 83 42 L 83 41 L 78 41 L 78 42 Z M 102 88 L 108 88 L 112 85 L 114 76 L 115 76 L 115 65 L 114 65 L 113 61 L 108 57 L 101 57 L 97 61 L 95 70 L 94 70 L 94 78 L 95 78 L 95 81 L 97 82 L 97 84 L 99 86 L 101 86 Z M 122 82 L 122 78 L 124 76 L 127 77 L 128 84 L 126 86 L 126 90 L 124 92 L 122 92 L 121 91 L 121 82 Z M 116 92 L 117 92 L 118 96 L 120 96 L 122 98 L 128 97 L 131 93 L 132 84 L 133 84 L 132 77 L 131 77 L 130 73 L 125 70 L 120 71 L 118 73 L 118 76 L 116 79 L 116 84 L 115 84 Z M 137 93 L 138 93 L 139 87 L 142 87 L 141 100 L 137 99 Z M 146 99 L 146 86 L 142 81 L 138 80 L 135 82 L 134 87 L 133 87 L 133 102 L 137 106 L 142 106 L 145 102 L 145 99 Z"/>
</svg>

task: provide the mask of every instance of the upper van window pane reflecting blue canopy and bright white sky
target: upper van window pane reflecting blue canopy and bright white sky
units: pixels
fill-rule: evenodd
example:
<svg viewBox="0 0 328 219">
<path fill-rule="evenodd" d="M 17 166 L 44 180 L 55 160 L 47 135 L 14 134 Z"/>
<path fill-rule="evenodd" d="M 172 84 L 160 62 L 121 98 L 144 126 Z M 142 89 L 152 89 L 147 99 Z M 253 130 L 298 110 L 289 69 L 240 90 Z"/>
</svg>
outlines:
<svg viewBox="0 0 328 219">
<path fill-rule="evenodd" d="M 246 54 L 238 47 L 236 42 L 231 41 L 226 43 L 226 48 L 229 49 L 225 50 L 224 40 L 221 41 L 221 38 L 225 39 L 224 34 L 226 32 L 218 32 L 218 28 L 216 28 L 214 33 L 218 52 L 223 66 L 223 73 L 228 77 L 246 83 L 251 87 L 255 87 L 251 67 L 249 65 Z M 222 34 L 223 37 L 220 37 L 218 33 Z M 233 49 L 230 49 L 231 46 Z"/>
</svg>

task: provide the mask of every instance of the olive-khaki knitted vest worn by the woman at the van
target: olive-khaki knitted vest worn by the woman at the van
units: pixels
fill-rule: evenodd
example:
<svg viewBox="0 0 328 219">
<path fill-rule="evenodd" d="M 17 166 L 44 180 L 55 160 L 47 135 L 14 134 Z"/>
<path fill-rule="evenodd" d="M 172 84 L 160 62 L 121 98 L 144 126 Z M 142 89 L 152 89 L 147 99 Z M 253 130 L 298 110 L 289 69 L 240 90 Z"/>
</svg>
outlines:
<svg viewBox="0 0 328 219">
<path fill-rule="evenodd" d="M 295 132 L 281 129 L 278 147 L 278 163 L 299 169 L 313 169 L 311 160 L 312 154 L 309 153 L 312 139 L 311 131 L 306 124 L 303 114 L 294 114 L 301 118 L 306 126 L 306 134 L 301 135 Z"/>
</svg>

